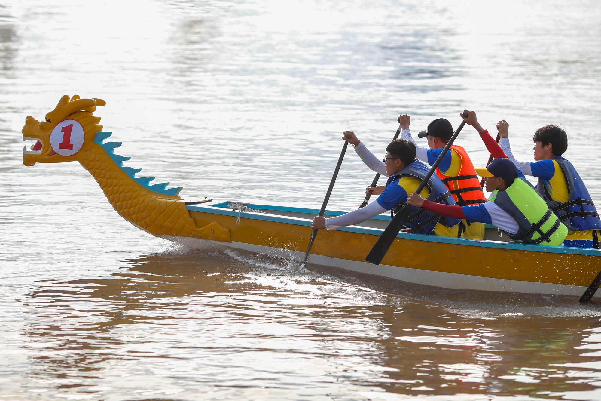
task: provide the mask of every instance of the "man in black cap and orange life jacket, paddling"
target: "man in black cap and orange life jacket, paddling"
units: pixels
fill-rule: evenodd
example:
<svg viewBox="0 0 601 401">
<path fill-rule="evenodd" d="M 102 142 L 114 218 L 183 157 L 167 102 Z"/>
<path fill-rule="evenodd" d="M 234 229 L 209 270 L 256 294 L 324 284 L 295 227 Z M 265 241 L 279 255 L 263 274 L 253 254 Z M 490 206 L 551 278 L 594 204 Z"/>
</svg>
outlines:
<svg viewBox="0 0 601 401">
<path fill-rule="evenodd" d="M 427 149 L 417 145 L 413 140 L 411 131 L 409 131 L 411 123 L 409 115 L 401 114 L 398 117 L 398 122 L 402 130 L 401 137 L 415 144 L 416 158 L 430 164 L 430 166 L 434 164 L 454 133 L 453 125 L 449 120 L 442 118 L 433 120 L 425 131 L 418 134 L 419 138 L 426 137 L 430 148 Z M 447 186 L 457 205 L 477 205 L 486 202 L 486 196 L 484 196 L 484 192 L 480 187 L 480 180 L 476 175 L 474 165 L 462 146 L 451 146 L 436 169 L 436 175 Z M 474 240 L 484 238 L 484 225 L 482 223 L 471 222 L 469 219 L 462 223 L 465 226 L 463 237 Z"/>
</svg>

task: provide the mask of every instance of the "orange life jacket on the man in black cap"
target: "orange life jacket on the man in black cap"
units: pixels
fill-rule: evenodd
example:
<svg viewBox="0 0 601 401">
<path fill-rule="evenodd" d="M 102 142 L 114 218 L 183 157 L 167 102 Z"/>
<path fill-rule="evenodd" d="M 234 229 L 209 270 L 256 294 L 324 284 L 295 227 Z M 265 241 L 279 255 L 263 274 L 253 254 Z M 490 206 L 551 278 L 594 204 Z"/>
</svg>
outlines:
<svg viewBox="0 0 601 401">
<path fill-rule="evenodd" d="M 480 180 L 476 175 L 474 164 L 469 160 L 468 154 L 461 146 L 453 145 L 451 148 L 461 158 L 461 167 L 457 176 L 444 175 L 440 169 L 436 169 L 438 178 L 447 185 L 449 192 L 453 195 L 457 205 L 467 206 L 482 204 L 486 202 L 484 192 L 480 186 Z"/>
</svg>

